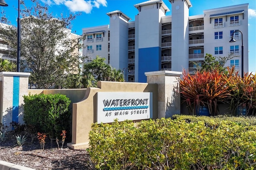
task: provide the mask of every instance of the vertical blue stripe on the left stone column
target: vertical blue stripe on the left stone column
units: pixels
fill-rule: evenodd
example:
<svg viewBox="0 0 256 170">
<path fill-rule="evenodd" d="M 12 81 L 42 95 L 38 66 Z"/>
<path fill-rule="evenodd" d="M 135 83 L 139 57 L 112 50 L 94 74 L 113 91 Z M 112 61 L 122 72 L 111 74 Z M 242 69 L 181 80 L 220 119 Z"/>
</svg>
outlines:
<svg viewBox="0 0 256 170">
<path fill-rule="evenodd" d="M 12 121 L 19 122 L 20 77 L 13 76 Z"/>
</svg>

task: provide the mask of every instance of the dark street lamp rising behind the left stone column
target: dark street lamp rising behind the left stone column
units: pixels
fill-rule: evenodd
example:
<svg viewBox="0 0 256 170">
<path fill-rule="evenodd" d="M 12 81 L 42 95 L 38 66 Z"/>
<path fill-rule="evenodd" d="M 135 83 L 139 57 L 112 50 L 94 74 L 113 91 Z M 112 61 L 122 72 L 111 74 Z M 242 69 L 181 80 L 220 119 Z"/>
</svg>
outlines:
<svg viewBox="0 0 256 170">
<path fill-rule="evenodd" d="M 4 0 L 0 0 L 0 6 L 8 6 L 8 4 Z M 20 72 L 20 0 L 18 0 L 17 22 L 17 72 Z"/>
</svg>

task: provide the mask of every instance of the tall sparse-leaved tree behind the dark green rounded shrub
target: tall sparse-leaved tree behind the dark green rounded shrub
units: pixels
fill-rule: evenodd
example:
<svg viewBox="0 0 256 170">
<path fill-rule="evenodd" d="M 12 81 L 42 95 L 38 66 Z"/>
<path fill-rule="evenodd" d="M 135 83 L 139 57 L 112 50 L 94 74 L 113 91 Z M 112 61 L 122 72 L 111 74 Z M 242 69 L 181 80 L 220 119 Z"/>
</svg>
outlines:
<svg viewBox="0 0 256 170">
<path fill-rule="evenodd" d="M 77 39 L 70 38 L 71 22 L 77 15 L 56 18 L 48 12 L 47 4 L 32 2 L 28 7 L 21 1 L 21 70 L 31 73 L 29 83 L 36 88 L 66 88 L 70 86 L 68 77 L 78 70 L 77 49 L 82 47 Z M 11 30 L 5 29 L 8 34 L 4 41 L 12 36 Z M 15 52 L 13 41 L 10 45 Z"/>
</svg>

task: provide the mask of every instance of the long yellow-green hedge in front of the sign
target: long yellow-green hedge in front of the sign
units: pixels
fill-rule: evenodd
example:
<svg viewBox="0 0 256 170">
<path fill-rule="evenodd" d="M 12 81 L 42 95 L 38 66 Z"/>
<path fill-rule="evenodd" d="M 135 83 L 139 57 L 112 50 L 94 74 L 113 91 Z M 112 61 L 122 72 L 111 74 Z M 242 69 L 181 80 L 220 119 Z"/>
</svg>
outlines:
<svg viewBox="0 0 256 170">
<path fill-rule="evenodd" d="M 113 170 L 256 168 L 255 124 L 205 119 L 95 123 L 89 135 L 92 163 L 96 169 Z"/>
</svg>

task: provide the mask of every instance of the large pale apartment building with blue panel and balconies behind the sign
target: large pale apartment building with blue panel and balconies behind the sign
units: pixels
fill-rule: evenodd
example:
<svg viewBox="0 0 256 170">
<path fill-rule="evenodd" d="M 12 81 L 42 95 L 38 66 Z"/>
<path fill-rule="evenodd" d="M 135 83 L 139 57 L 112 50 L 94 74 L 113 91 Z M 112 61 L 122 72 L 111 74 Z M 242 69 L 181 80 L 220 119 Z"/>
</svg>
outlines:
<svg viewBox="0 0 256 170">
<path fill-rule="evenodd" d="M 170 9 L 162 0 L 149 0 L 134 7 L 135 21 L 120 10 L 107 13 L 110 24 L 83 28 L 83 55 L 86 62 L 99 55 L 124 74 L 129 82 L 146 82 L 145 72 L 195 69 L 206 53 L 216 57 L 234 55 L 226 66 L 241 74 L 242 41 L 244 72 L 248 72 L 248 4 L 204 10 L 202 15 L 189 16 L 190 0 L 170 0 Z M 234 33 L 236 42 L 229 42 Z M 242 32 L 242 34 L 241 34 Z M 243 40 L 242 40 L 243 39 Z"/>
</svg>

